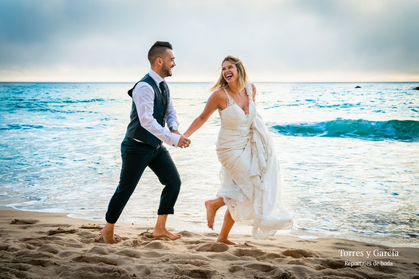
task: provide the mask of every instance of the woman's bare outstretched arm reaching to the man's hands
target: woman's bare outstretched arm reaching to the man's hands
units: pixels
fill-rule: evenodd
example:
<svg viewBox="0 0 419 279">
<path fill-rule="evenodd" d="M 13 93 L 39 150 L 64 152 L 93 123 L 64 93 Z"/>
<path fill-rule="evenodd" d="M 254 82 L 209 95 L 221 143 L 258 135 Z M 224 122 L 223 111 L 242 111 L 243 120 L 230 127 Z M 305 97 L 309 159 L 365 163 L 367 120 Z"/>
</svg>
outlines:
<svg viewBox="0 0 419 279">
<path fill-rule="evenodd" d="M 221 90 L 221 91 L 220 91 Z M 223 98 L 224 97 L 224 98 Z M 199 115 L 194 122 L 191 123 L 188 130 L 184 133 L 185 138 L 189 138 L 193 133 L 195 133 L 199 128 L 207 122 L 208 118 L 215 112 L 218 108 L 220 108 L 220 104 L 224 101 L 225 102 L 225 94 L 224 91 L 220 88 L 215 90 L 211 96 L 209 96 L 207 104 L 205 105 L 204 110 L 202 111 L 201 115 Z"/>
</svg>

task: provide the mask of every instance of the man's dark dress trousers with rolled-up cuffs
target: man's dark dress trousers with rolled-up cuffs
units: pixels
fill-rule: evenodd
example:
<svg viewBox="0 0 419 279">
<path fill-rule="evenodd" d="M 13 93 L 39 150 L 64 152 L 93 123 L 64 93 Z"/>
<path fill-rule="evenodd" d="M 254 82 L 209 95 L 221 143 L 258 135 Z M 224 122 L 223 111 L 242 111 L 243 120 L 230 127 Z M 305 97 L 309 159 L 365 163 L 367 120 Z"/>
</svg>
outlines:
<svg viewBox="0 0 419 279">
<path fill-rule="evenodd" d="M 160 183 L 165 185 L 160 196 L 157 214 L 173 214 L 181 179 L 166 147 L 160 143 L 154 148 L 125 137 L 121 143 L 121 156 L 119 185 L 109 202 L 106 222 L 116 223 L 147 166 L 157 175 Z"/>
</svg>

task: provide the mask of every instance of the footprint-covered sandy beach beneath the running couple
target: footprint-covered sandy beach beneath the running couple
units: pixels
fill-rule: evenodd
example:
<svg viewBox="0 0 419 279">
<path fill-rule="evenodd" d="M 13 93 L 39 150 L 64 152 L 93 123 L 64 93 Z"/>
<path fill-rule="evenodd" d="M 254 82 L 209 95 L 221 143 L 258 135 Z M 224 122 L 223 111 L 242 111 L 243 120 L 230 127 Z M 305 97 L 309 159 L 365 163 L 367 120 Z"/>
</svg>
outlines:
<svg viewBox="0 0 419 279">
<path fill-rule="evenodd" d="M 65 214 L 4 208 L 0 222 L 0 278 L 419 278 L 419 248 L 282 235 L 231 235 L 241 244 L 228 246 L 215 232 L 189 231 L 169 241 L 127 223 L 110 245 L 103 223 Z"/>
</svg>

